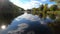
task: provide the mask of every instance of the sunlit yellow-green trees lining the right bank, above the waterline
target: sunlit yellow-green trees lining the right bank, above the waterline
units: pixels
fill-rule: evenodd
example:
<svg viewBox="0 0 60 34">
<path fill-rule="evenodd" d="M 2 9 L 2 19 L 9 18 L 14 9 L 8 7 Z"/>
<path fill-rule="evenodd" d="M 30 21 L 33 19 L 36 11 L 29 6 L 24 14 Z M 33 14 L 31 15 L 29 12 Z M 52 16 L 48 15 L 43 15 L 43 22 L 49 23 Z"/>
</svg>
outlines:
<svg viewBox="0 0 60 34">
<path fill-rule="evenodd" d="M 48 4 L 45 5 L 40 5 L 40 7 L 38 8 L 33 8 L 32 11 L 36 12 L 36 11 L 59 11 L 59 7 L 57 5 L 51 5 L 50 7 L 48 6 Z"/>
</svg>

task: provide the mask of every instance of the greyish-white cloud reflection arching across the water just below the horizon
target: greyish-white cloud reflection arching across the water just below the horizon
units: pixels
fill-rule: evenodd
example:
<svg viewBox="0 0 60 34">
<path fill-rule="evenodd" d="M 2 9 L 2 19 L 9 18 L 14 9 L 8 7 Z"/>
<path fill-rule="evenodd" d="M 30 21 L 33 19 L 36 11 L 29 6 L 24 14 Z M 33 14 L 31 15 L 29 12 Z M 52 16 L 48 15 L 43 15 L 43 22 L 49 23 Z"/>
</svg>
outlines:
<svg viewBox="0 0 60 34">
<path fill-rule="evenodd" d="M 27 20 L 31 20 L 31 21 L 37 21 L 37 20 L 40 20 L 40 18 L 38 16 L 35 16 L 35 15 L 32 15 L 32 14 L 27 14 L 27 13 L 24 13 L 23 15 L 21 16 L 18 16 L 17 18 L 15 18 L 17 21 L 20 21 L 21 18 L 25 18 Z"/>
</svg>

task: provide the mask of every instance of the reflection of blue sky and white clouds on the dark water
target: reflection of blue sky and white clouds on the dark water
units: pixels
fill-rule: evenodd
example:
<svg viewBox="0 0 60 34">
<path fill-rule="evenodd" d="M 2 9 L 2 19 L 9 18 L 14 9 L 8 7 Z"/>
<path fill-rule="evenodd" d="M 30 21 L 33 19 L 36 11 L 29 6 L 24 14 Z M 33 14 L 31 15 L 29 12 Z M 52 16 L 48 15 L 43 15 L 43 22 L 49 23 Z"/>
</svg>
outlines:
<svg viewBox="0 0 60 34">
<path fill-rule="evenodd" d="M 49 17 L 46 19 L 40 19 L 36 15 L 24 13 L 23 15 L 15 18 L 12 21 L 12 23 L 5 30 L 3 30 L 3 31 L 1 30 L 0 33 L 7 34 L 9 31 L 12 31 L 12 30 L 15 31 L 16 29 L 18 29 L 18 26 L 20 27 L 20 29 L 23 29 L 23 30 L 25 30 L 25 27 L 26 27 L 27 28 L 26 31 L 28 31 L 30 28 L 33 29 L 36 27 L 36 28 L 40 29 L 42 27 L 41 31 L 43 31 L 43 28 L 45 30 L 45 27 L 47 27 L 45 24 L 47 24 L 49 22 L 52 22 L 52 20 L 49 19 Z M 43 25 L 41 25 L 41 24 L 43 24 Z"/>
</svg>

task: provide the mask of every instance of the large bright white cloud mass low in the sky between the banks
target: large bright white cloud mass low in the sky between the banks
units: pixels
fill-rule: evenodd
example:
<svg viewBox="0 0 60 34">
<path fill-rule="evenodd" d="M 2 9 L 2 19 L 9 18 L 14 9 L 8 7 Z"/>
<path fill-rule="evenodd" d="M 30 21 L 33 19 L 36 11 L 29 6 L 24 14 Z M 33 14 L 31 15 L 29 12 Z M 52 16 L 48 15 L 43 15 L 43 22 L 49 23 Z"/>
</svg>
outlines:
<svg viewBox="0 0 60 34">
<path fill-rule="evenodd" d="M 15 4 L 17 6 L 24 8 L 25 10 L 31 9 L 33 7 L 38 7 L 39 4 L 42 4 L 39 1 L 35 1 L 35 0 L 31 0 L 26 3 L 23 3 L 23 1 L 20 1 L 20 0 L 10 0 L 10 1 L 13 2 L 13 4 Z"/>
</svg>

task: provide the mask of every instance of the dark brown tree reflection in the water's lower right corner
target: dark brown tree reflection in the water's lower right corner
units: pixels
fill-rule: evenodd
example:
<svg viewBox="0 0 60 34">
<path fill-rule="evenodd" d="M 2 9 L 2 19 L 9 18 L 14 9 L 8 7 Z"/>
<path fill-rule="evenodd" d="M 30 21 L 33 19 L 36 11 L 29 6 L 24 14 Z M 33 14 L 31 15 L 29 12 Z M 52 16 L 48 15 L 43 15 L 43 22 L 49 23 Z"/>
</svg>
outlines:
<svg viewBox="0 0 60 34">
<path fill-rule="evenodd" d="M 52 29 L 53 34 L 60 34 L 60 19 L 56 20 L 53 23 L 48 24 L 48 26 Z"/>
</svg>

